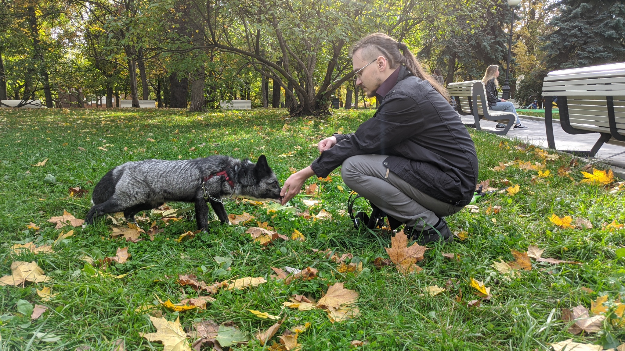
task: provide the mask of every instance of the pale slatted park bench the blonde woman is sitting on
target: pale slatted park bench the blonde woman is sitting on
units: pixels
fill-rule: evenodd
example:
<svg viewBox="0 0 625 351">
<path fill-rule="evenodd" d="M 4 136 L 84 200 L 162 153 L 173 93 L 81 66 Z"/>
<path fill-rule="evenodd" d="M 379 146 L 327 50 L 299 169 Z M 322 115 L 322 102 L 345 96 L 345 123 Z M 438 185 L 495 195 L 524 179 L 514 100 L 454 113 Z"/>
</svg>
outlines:
<svg viewBox="0 0 625 351">
<path fill-rule="evenodd" d="M 481 118 L 506 124 L 506 127 L 501 131 L 489 131 L 499 135 L 506 135 L 516 121 L 516 116 L 511 112 L 491 110 L 486 101 L 486 89 L 484 89 L 482 81 L 449 83 L 447 92 L 456 101 L 456 110 L 459 114 L 474 117 L 475 124 L 468 124 L 467 126 L 474 127 L 478 131 L 482 130 L 479 125 Z"/>
</svg>

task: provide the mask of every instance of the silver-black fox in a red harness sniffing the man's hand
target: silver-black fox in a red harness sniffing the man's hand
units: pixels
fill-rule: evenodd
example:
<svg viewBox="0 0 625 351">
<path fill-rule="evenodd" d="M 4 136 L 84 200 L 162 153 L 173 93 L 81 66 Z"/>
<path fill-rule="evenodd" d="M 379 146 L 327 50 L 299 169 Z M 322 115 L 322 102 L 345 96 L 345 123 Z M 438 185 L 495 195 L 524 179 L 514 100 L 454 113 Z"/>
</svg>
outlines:
<svg viewBox="0 0 625 351">
<path fill-rule="evenodd" d="M 206 230 L 207 204 L 227 223 L 219 199 L 236 195 L 280 201 L 280 185 L 264 155 L 256 164 L 228 156 L 126 162 L 96 184 L 86 223 L 93 224 L 98 215 L 122 211 L 128 222 L 134 222 L 139 211 L 156 209 L 167 201 L 184 201 L 195 202 L 197 229 Z"/>
</svg>

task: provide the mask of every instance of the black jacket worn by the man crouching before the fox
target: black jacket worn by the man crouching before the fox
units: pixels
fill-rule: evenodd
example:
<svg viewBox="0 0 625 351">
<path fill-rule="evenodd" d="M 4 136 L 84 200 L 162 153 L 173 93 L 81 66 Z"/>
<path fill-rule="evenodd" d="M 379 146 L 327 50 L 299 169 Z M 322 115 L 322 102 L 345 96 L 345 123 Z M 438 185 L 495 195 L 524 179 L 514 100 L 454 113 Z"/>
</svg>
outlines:
<svg viewBox="0 0 625 351">
<path fill-rule="evenodd" d="M 477 181 L 469 132 L 429 82 L 399 69 L 376 114 L 355 133 L 336 134 L 336 145 L 312 162 L 312 171 L 327 177 L 350 156 L 388 155 L 384 165 L 412 186 L 452 205 L 469 204 Z"/>
</svg>

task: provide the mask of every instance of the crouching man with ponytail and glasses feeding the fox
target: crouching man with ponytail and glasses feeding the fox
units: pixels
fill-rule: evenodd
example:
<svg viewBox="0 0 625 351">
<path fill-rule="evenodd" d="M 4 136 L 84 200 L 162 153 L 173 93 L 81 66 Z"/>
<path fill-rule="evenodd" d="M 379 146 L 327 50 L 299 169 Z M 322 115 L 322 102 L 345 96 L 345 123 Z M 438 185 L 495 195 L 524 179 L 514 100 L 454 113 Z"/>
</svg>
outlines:
<svg viewBox="0 0 625 351">
<path fill-rule="evenodd" d="M 282 204 L 312 175 L 325 178 L 342 165 L 345 184 L 372 204 L 369 223 L 388 215 L 420 244 L 451 242 L 443 217 L 471 202 L 477 180 L 469 132 L 406 44 L 373 33 L 350 52 L 356 85 L 377 97 L 379 108 L 356 132 L 319 142 L 321 156 L 284 182 Z"/>
</svg>

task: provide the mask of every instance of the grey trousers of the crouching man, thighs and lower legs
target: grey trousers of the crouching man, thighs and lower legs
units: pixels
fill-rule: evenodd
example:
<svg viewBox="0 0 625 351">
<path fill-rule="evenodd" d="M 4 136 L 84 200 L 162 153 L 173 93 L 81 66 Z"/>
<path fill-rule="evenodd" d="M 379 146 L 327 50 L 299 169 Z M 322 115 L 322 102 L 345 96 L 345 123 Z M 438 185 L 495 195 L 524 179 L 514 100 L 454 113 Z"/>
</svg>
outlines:
<svg viewBox="0 0 625 351">
<path fill-rule="evenodd" d="M 415 229 L 422 229 L 425 224 L 436 225 L 439 217 L 464 207 L 434 199 L 408 184 L 388 171 L 383 164 L 386 157 L 371 154 L 349 157 L 342 164 L 343 181 L 387 215 Z"/>
</svg>

